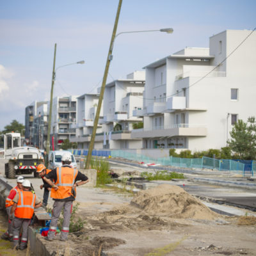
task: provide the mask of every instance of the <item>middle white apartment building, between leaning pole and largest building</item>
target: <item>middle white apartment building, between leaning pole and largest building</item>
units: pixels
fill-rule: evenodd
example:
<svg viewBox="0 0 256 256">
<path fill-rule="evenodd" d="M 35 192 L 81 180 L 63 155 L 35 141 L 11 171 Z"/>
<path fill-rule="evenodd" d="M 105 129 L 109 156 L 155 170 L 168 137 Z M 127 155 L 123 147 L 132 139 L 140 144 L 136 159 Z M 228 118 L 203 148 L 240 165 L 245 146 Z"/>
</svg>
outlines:
<svg viewBox="0 0 256 256">
<path fill-rule="evenodd" d="M 131 138 L 132 124 L 142 122 L 133 116 L 134 109 L 143 108 L 145 71 L 135 71 L 127 79 L 106 84 L 103 104 L 102 134 L 95 141 L 102 141 L 103 148 L 141 148 L 141 138 Z"/>
</svg>

